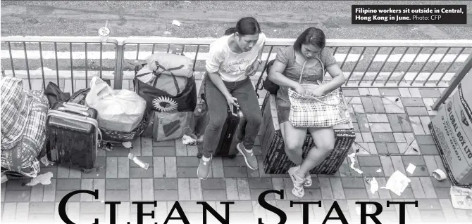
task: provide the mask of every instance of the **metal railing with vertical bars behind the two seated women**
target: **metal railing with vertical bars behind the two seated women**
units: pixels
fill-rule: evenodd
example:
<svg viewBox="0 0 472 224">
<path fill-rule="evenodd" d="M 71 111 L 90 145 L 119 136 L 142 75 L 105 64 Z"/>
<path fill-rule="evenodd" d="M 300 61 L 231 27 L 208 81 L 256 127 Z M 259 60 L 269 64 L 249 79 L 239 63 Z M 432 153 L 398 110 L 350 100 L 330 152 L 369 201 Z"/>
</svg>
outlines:
<svg viewBox="0 0 472 224">
<path fill-rule="evenodd" d="M 87 86 L 89 73 L 92 72 L 92 76 L 99 75 L 100 77 L 102 77 L 102 73 L 106 73 L 105 77 L 114 82 L 114 88 L 129 88 L 130 86 L 123 86 L 123 80 L 131 80 L 134 77 L 133 65 L 144 62 L 147 56 L 155 52 L 173 51 L 175 53 L 177 51 L 186 55 L 194 60 L 194 71 L 201 75 L 204 72 L 204 61 L 209 58 L 209 45 L 216 40 L 170 37 L 128 37 L 123 38 L 123 41 L 117 41 L 117 39 L 111 38 L 106 43 L 102 43 L 99 37 L 2 37 L 2 68 L 5 70 L 5 75 L 15 76 L 15 66 L 19 63 L 26 70 L 23 72 L 23 77 L 28 79 L 30 88 L 32 87 L 32 78 L 42 79 L 44 88 L 46 78 L 50 78 L 54 70 L 44 72 L 42 48 L 46 44 L 54 44 L 55 57 L 53 58 L 56 62 L 57 84 L 59 84 L 60 77 L 70 79 L 73 91 L 74 78 L 85 79 L 85 86 Z M 268 39 L 263 53 L 264 63 L 266 64 L 275 58 L 278 48 L 290 46 L 294 41 L 295 39 Z M 13 43 L 16 45 L 12 49 L 11 44 Z M 30 76 L 31 65 L 28 64 L 29 61 L 32 61 L 28 58 L 30 48 L 27 48 L 27 44 L 31 43 L 39 46 L 39 57 L 35 58 L 39 62 L 35 61 L 34 63 L 41 67 L 41 73 L 35 72 L 33 76 Z M 58 44 L 68 45 L 70 55 L 58 57 L 58 52 L 63 53 L 63 49 L 58 51 Z M 77 53 L 77 51 L 83 51 L 77 48 L 79 44 L 85 45 L 85 57 Z M 96 46 L 97 51 L 87 52 L 87 45 L 88 47 Z M 108 45 L 113 47 L 109 52 L 104 50 L 104 46 Z M 472 40 L 328 39 L 326 47 L 344 72 L 346 77 L 344 86 L 346 87 L 449 87 L 447 91 L 443 92 L 449 94 L 460 81 L 454 77 L 461 78 L 468 72 L 466 69 L 471 61 L 470 55 L 472 55 Z M 6 51 L 3 51 L 4 48 L 8 48 L 8 57 L 4 56 L 7 54 Z M 49 49 L 52 49 L 52 46 L 49 46 Z M 77 57 L 73 57 L 73 50 L 76 50 L 74 53 L 77 53 Z M 49 55 L 52 52 L 49 51 Z M 97 54 L 99 54 L 99 58 Z M 89 70 L 90 55 L 99 60 L 98 67 L 95 67 L 93 71 Z M 102 55 L 106 55 L 105 59 Z M 24 60 L 24 65 L 20 63 L 20 60 Z M 106 66 L 103 65 L 103 60 L 105 60 Z M 77 62 L 82 67 L 77 68 Z M 54 64 L 49 61 L 49 64 L 51 63 Z M 67 67 L 70 72 L 61 71 L 63 72 L 61 73 L 58 65 Z M 104 66 L 106 70 L 104 70 Z M 262 69 L 263 66 L 259 67 L 259 70 Z M 462 76 L 456 76 L 456 74 L 462 74 Z M 257 79 L 259 75 L 265 76 L 266 74 L 259 73 L 251 78 Z M 438 102 L 445 100 L 448 96 L 448 94 L 442 95 Z"/>
</svg>

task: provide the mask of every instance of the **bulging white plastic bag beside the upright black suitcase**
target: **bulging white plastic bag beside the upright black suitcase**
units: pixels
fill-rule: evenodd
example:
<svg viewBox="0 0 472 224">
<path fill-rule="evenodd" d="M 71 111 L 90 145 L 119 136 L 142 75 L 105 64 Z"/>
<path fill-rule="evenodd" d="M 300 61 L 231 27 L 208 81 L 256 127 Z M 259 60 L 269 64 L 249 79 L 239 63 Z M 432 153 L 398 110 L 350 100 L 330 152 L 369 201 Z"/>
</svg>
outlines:
<svg viewBox="0 0 472 224">
<path fill-rule="evenodd" d="M 146 110 L 146 100 L 137 93 L 126 89 L 113 90 L 99 77 L 90 81 L 85 103 L 97 110 L 99 126 L 111 131 L 132 131 Z"/>
</svg>

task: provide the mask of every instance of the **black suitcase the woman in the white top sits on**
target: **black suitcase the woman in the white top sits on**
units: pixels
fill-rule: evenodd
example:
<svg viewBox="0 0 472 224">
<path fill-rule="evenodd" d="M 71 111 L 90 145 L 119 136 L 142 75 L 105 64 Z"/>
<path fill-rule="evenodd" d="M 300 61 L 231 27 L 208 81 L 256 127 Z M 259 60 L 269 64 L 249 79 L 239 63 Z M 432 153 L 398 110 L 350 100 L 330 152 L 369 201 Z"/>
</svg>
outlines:
<svg viewBox="0 0 472 224">
<path fill-rule="evenodd" d="M 205 100 L 204 95 L 204 81 L 201 84 L 199 96 L 201 101 Z M 206 102 L 203 103 L 203 108 L 206 108 Z M 206 126 L 209 123 L 208 112 L 202 114 L 202 116 L 197 120 L 197 137 L 200 137 L 204 134 Z M 221 131 L 220 140 L 218 141 L 218 146 L 216 147 L 213 156 L 215 157 L 230 157 L 235 158 L 239 153 L 236 145 L 242 142 L 244 138 L 244 132 L 246 129 L 246 119 L 240 110 L 231 112 L 230 107 L 228 107 L 228 117 L 226 117 L 225 124 Z M 201 152 L 203 143 L 199 142 L 197 144 L 198 154 L 197 157 L 201 158 Z"/>
</svg>

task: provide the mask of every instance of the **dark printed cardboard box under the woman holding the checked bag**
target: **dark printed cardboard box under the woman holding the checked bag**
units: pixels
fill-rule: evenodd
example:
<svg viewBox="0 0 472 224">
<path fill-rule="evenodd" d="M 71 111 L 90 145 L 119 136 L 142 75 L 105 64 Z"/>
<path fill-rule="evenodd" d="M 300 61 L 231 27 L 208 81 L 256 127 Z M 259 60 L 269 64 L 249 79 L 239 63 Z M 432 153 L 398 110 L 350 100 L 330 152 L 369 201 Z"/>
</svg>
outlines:
<svg viewBox="0 0 472 224">
<path fill-rule="evenodd" d="M 285 143 L 278 124 L 277 105 L 275 95 L 267 94 L 262 105 L 261 150 L 264 171 L 266 173 L 287 173 L 295 164 L 285 154 Z M 335 126 L 335 149 L 319 166 L 310 171 L 312 174 L 334 174 L 347 157 L 349 149 L 354 143 L 356 135 L 352 123 Z M 313 147 L 313 138 L 306 133 L 303 145 L 305 157 Z"/>
</svg>

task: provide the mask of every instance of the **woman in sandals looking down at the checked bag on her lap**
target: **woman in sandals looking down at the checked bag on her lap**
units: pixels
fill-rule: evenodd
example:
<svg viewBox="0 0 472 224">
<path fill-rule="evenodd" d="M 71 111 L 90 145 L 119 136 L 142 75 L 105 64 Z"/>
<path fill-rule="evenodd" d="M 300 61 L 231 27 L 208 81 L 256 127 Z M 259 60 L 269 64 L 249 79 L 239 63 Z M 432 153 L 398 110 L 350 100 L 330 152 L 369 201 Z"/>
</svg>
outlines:
<svg viewBox="0 0 472 224">
<path fill-rule="evenodd" d="M 292 193 L 297 197 L 303 197 L 303 187 L 311 185 L 309 171 L 323 162 L 323 159 L 330 154 L 335 145 L 333 127 L 309 128 L 308 131 L 313 136 L 316 146 L 311 148 L 303 160 L 302 147 L 307 129 L 296 128 L 288 121 L 290 113 L 289 88 L 294 89 L 300 95 L 321 96 L 344 84 L 344 75 L 333 55 L 325 48 L 325 41 L 325 34 L 321 29 L 315 27 L 306 29 L 300 34 L 293 46 L 287 46 L 278 51 L 269 74 L 269 79 L 280 86 L 276 98 L 280 131 L 282 131 L 285 141 L 287 156 L 294 164 L 297 164 L 288 171 L 294 185 Z M 320 60 L 333 79 L 313 90 L 306 90 L 299 84 L 302 65 L 306 62 L 302 83 L 317 84 L 317 81 L 321 81 L 323 78 Z"/>
</svg>

